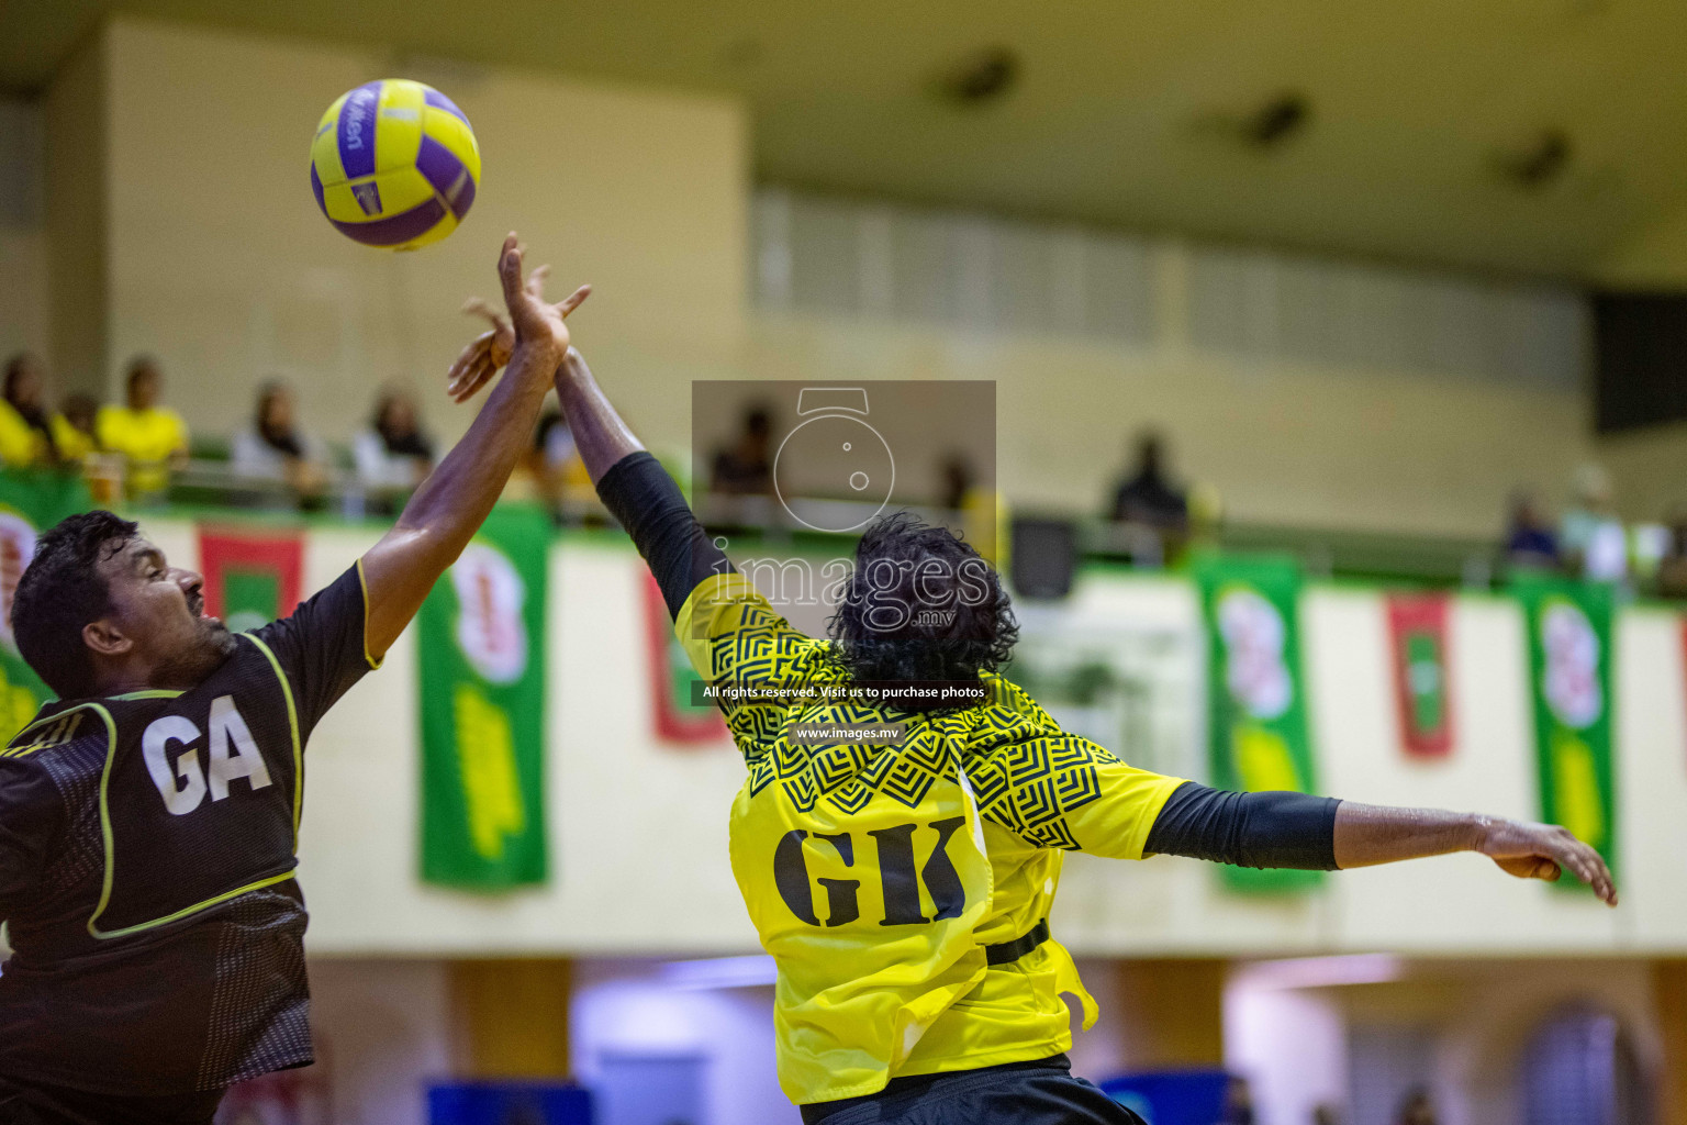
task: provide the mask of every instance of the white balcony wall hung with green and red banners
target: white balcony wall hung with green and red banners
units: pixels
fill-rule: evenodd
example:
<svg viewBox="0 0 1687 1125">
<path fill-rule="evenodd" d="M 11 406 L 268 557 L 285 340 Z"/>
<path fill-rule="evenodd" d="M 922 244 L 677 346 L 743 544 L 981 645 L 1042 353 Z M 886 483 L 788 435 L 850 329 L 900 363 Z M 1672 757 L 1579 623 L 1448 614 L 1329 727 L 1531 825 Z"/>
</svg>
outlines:
<svg viewBox="0 0 1687 1125">
<path fill-rule="evenodd" d="M 192 565 L 192 525 L 147 528 Z M 326 585 L 373 541 L 315 530 L 305 584 Z M 415 641 L 407 632 L 319 729 L 309 756 L 302 879 L 312 950 L 331 955 L 730 953 L 754 936 L 727 869 L 727 806 L 741 766 L 727 744 L 665 746 L 651 719 L 643 563 L 612 540 L 552 552 L 548 826 L 552 879 L 477 896 L 417 879 Z M 1086 579 L 1063 612 L 1125 611 L 1196 629 L 1176 579 Z M 1390 695 L 1382 599 L 1314 585 L 1302 600 L 1321 789 L 1353 799 L 1533 816 L 1525 649 L 1517 607 L 1459 597 L 1453 616 L 1451 759 L 1407 761 Z M 1687 901 L 1687 693 L 1682 619 L 1633 609 L 1616 631 L 1623 906 L 1510 880 L 1473 855 L 1329 877 L 1296 899 L 1240 897 L 1191 860 L 1071 857 L 1056 929 L 1086 955 L 1679 953 Z M 1189 725 L 1193 732 L 1194 724 Z M 1118 747 L 1130 757 L 1130 747 Z M 1193 751 L 1183 761 L 1199 761 Z"/>
</svg>

